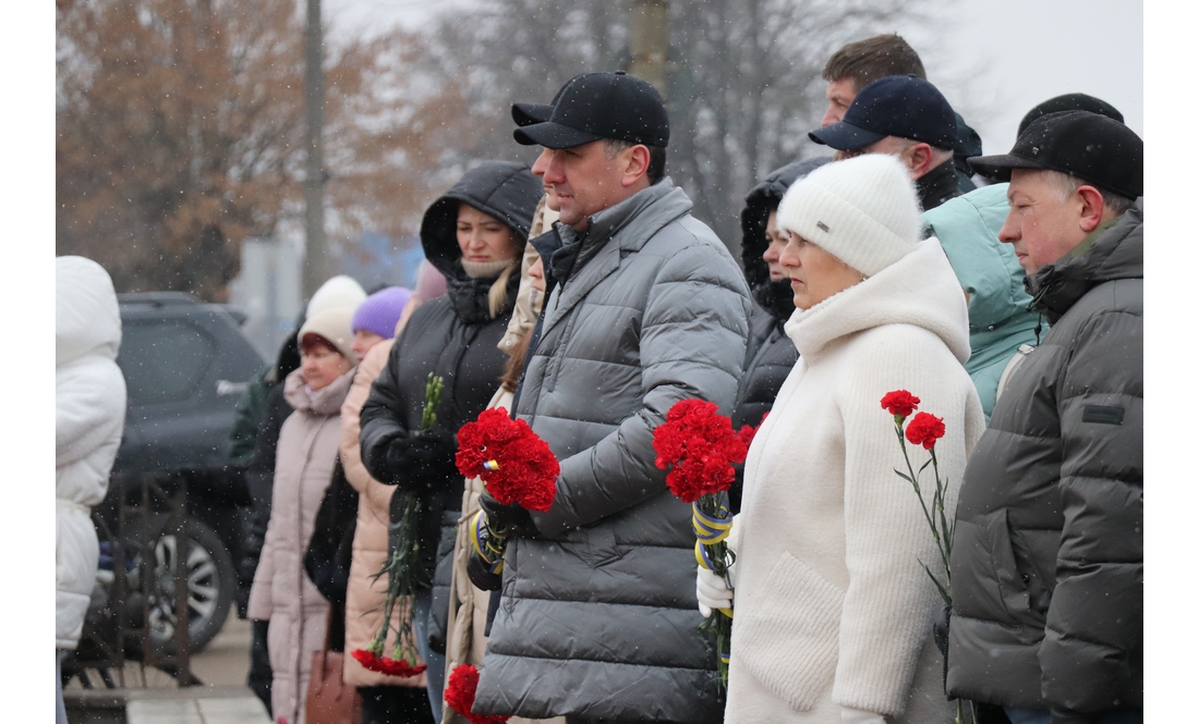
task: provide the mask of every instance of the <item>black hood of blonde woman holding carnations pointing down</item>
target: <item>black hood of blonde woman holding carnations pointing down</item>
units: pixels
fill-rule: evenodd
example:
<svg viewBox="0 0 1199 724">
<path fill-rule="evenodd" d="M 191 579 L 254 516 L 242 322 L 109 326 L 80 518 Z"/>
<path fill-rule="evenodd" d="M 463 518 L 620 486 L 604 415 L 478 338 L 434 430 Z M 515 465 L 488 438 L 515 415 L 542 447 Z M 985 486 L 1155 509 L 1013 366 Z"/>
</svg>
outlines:
<svg viewBox="0 0 1199 724">
<path fill-rule="evenodd" d="M 469 322 L 483 322 L 487 314 L 487 292 L 492 279 L 471 279 L 462 268 L 458 248 L 458 203 L 465 202 L 504 221 L 517 232 L 520 248 L 529 238 L 529 226 L 543 194 L 541 181 L 528 166 L 513 162 L 483 162 L 466 171 L 458 183 L 429 205 L 421 221 L 421 247 L 429 263 L 446 278 L 446 293 L 454 311 Z M 513 274 L 508 286 L 516 293 L 519 274 Z"/>
</svg>

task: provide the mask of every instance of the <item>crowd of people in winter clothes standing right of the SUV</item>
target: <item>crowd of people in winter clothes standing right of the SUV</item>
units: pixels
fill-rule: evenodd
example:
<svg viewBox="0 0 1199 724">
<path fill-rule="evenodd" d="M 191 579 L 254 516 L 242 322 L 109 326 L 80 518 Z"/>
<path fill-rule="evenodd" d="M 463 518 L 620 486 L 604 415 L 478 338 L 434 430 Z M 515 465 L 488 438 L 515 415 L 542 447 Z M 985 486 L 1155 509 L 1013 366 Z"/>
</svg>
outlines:
<svg viewBox="0 0 1199 724">
<path fill-rule="evenodd" d="M 1143 720 L 1141 139 L 1067 93 L 983 156 L 897 35 L 824 78 L 809 136 L 835 153 L 747 189 L 740 264 L 667 175 L 662 97 L 596 72 L 513 104 L 540 157 L 478 163 L 428 207 L 412 292 L 317 292 L 235 432 L 260 534 L 248 683 L 275 720 L 303 724 L 313 652 L 379 631 L 374 574 L 412 499 L 426 583 L 392 626 L 428 668 L 347 656 L 363 723 L 465 722 L 444 704 L 460 664 L 474 713 L 511 722 L 927 724 L 951 698 L 977 722 Z M 896 475 L 893 390 L 944 424 L 950 606 Z M 728 576 L 697 566 L 655 464 L 655 428 L 695 397 L 758 426 Z M 454 464 L 496 407 L 560 463 L 546 512 Z M 500 572 L 478 511 L 511 534 Z M 699 632 L 718 609 L 727 687 Z"/>
</svg>

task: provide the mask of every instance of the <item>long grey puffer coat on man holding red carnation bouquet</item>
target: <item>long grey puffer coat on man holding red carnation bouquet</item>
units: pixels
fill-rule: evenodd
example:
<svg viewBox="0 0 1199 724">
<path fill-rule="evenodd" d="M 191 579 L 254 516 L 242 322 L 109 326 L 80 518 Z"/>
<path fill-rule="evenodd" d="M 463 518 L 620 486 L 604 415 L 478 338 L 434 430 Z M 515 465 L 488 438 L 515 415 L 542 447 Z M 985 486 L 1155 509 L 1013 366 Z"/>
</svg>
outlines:
<svg viewBox="0 0 1199 724">
<path fill-rule="evenodd" d="M 556 286 L 517 413 L 562 471 L 554 507 L 532 516 L 540 536 L 508 543 L 475 713 L 721 719 L 715 653 L 695 631 L 691 509 L 651 439 L 685 397 L 728 413 L 751 303 L 691 208 L 662 180 L 586 235 L 555 226 Z"/>
</svg>

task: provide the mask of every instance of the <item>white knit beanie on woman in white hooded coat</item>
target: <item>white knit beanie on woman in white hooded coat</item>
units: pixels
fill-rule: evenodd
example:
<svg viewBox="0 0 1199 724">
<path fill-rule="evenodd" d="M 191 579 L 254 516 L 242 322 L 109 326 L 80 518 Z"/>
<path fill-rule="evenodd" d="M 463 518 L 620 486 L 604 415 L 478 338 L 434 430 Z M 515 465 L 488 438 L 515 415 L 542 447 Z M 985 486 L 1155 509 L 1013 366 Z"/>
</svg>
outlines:
<svg viewBox="0 0 1199 724">
<path fill-rule="evenodd" d="M 916 187 L 897 158 L 881 153 L 808 174 L 779 202 L 778 226 L 867 276 L 915 250 L 922 236 Z"/>
</svg>

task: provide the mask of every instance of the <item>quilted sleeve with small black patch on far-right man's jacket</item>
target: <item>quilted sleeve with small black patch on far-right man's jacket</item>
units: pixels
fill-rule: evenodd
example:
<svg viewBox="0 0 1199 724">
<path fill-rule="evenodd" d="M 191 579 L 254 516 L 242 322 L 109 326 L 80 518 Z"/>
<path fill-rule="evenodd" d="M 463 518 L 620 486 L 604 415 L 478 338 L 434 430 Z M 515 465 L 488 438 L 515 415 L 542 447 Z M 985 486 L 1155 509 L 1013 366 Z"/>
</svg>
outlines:
<svg viewBox="0 0 1199 724">
<path fill-rule="evenodd" d="M 1141 316 L 1103 311 L 1074 339 L 1058 402 L 1065 525 L 1038 652 L 1054 722 L 1119 706 L 1111 692 L 1128 689 L 1141 651 Z"/>
</svg>

